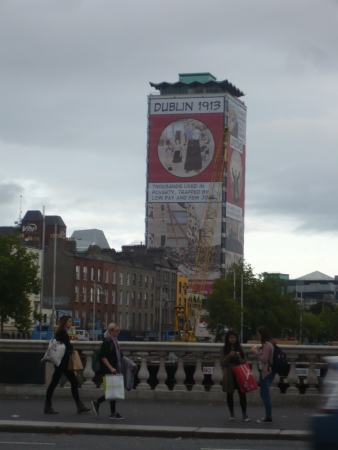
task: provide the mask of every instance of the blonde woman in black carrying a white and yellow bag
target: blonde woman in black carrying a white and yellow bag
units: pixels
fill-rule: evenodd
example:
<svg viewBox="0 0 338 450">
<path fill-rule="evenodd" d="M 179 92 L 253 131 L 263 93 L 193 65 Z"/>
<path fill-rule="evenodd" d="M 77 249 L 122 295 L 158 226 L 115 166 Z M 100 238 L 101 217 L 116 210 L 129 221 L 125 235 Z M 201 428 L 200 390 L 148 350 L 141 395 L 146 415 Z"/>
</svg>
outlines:
<svg viewBox="0 0 338 450">
<path fill-rule="evenodd" d="M 120 350 L 117 340 L 119 332 L 119 326 L 116 325 L 116 323 L 110 323 L 104 334 L 105 339 L 102 342 L 100 350 L 102 376 L 122 373 L 123 353 Z M 95 414 L 99 414 L 100 405 L 105 401 L 105 399 L 105 396 L 102 395 L 102 397 L 92 402 Z M 116 412 L 116 400 L 110 400 L 110 418 L 119 420 L 124 419 L 121 414 Z"/>
</svg>

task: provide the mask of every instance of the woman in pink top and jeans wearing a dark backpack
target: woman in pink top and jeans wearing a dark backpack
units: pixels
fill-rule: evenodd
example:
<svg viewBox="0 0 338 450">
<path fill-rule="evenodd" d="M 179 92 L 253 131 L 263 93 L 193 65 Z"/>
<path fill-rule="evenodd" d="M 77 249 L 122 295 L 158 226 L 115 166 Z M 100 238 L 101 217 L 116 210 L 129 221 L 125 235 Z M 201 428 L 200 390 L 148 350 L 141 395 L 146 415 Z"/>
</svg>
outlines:
<svg viewBox="0 0 338 450">
<path fill-rule="evenodd" d="M 257 420 L 258 423 L 272 423 L 272 404 L 270 396 L 270 385 L 275 378 L 272 372 L 273 352 L 272 336 L 268 328 L 260 326 L 257 328 L 257 337 L 262 346 L 260 349 L 252 347 L 251 351 L 257 356 L 259 370 L 260 395 L 265 406 L 265 417 Z"/>
</svg>

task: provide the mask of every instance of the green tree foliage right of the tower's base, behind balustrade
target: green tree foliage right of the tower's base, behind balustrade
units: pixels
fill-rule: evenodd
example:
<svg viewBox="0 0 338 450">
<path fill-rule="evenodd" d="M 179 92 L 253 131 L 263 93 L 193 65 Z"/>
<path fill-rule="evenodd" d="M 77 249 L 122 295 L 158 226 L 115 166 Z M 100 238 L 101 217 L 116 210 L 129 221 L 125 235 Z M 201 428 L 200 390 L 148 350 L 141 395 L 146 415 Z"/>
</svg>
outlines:
<svg viewBox="0 0 338 450">
<path fill-rule="evenodd" d="M 270 274 L 255 275 L 246 262 L 234 264 L 225 278 L 217 279 L 207 297 L 208 328 L 217 324 L 240 329 L 241 276 L 243 275 L 243 321 L 252 336 L 260 325 L 267 326 L 274 337 L 284 327 L 299 329 L 300 312 L 292 294 L 285 294 L 285 281 Z M 247 333 L 246 333 L 247 334 Z"/>
</svg>

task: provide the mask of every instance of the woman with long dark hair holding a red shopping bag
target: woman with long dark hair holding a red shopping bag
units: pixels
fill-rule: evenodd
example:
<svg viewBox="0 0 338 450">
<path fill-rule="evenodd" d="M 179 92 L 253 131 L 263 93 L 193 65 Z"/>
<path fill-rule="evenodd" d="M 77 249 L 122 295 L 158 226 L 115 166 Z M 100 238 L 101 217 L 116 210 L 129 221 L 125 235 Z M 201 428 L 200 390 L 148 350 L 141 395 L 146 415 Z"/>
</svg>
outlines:
<svg viewBox="0 0 338 450">
<path fill-rule="evenodd" d="M 236 377 L 232 371 L 233 367 L 244 364 L 245 353 L 238 342 L 238 336 L 234 331 L 228 331 L 225 335 L 225 344 L 221 354 L 221 364 L 223 369 L 223 391 L 227 394 L 227 405 L 230 411 L 230 420 L 235 420 L 234 413 L 234 392 L 238 391 L 239 403 L 242 409 L 244 422 L 250 422 L 246 414 L 246 395 L 239 389 Z"/>
</svg>

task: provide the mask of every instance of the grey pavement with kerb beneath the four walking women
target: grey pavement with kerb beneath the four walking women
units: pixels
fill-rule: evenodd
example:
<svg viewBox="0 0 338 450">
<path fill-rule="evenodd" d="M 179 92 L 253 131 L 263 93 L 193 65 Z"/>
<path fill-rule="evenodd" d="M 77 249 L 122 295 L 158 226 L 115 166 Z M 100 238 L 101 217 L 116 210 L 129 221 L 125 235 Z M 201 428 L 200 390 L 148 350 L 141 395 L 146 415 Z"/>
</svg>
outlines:
<svg viewBox="0 0 338 450">
<path fill-rule="evenodd" d="M 236 398 L 236 395 L 235 395 Z M 84 401 L 91 406 L 89 401 Z M 124 420 L 109 418 L 109 402 L 93 411 L 77 414 L 71 398 L 55 398 L 59 414 L 44 414 L 44 401 L 37 398 L 0 398 L 0 432 L 102 434 L 176 438 L 284 439 L 309 440 L 309 421 L 315 408 L 273 407 L 273 423 L 258 424 L 264 416 L 262 405 L 248 405 L 251 422 L 243 422 L 235 402 L 236 419 L 229 421 L 226 404 L 118 401 L 117 411 Z"/>
</svg>

